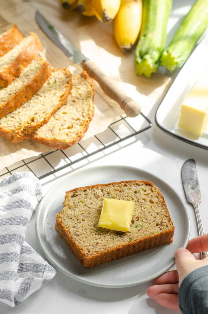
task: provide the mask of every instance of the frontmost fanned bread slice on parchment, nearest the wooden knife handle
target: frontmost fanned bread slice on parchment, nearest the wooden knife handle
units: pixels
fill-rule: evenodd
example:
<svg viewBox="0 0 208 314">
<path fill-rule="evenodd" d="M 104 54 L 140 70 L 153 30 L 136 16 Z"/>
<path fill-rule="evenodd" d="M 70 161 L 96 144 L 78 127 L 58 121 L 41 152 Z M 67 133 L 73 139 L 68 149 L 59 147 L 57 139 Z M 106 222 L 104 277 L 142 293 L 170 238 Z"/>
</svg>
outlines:
<svg viewBox="0 0 208 314">
<path fill-rule="evenodd" d="M 93 79 L 83 71 L 72 75 L 72 90 L 67 102 L 28 139 L 56 149 L 67 149 L 80 141 L 94 113 Z"/>
</svg>

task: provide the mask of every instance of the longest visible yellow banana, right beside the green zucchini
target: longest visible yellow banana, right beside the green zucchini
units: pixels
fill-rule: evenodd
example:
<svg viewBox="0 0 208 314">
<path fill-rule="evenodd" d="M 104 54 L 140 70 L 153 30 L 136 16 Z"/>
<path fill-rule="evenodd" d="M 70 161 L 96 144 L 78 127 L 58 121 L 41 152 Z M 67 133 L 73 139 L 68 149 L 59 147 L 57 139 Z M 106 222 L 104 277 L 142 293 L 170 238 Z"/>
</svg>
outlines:
<svg viewBox="0 0 208 314">
<path fill-rule="evenodd" d="M 131 49 L 141 28 L 142 0 L 121 0 L 114 19 L 115 40 L 123 52 Z"/>
</svg>

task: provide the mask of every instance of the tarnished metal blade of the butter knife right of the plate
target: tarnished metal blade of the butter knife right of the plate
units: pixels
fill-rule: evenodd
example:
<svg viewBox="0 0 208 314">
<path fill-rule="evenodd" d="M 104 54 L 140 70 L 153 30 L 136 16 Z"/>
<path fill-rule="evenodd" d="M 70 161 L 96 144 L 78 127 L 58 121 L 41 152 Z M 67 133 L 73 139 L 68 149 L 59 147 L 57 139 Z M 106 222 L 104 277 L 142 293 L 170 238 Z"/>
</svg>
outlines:
<svg viewBox="0 0 208 314">
<path fill-rule="evenodd" d="M 201 193 L 194 159 L 184 162 L 181 170 L 181 178 L 187 201 L 191 204 L 200 203 Z"/>
</svg>

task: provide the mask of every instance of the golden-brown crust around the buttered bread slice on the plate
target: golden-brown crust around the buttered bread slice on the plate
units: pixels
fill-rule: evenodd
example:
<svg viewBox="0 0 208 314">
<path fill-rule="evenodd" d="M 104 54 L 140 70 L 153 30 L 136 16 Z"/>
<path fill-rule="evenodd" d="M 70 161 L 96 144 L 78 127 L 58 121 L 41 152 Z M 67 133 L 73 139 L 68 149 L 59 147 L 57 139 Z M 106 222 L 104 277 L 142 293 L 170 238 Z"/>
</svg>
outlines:
<svg viewBox="0 0 208 314">
<path fill-rule="evenodd" d="M 158 198 L 161 199 L 161 204 L 162 204 L 163 210 L 166 214 L 166 218 L 167 218 L 167 221 L 169 223 L 169 226 L 168 226 L 168 228 L 166 228 L 166 229 L 164 228 L 163 230 L 161 230 L 161 232 L 159 231 L 156 234 L 141 236 L 141 237 L 138 237 L 137 239 L 134 239 L 134 240 L 132 239 L 133 241 L 126 241 L 126 240 L 124 241 L 124 239 L 122 238 L 122 235 L 124 235 L 125 233 L 122 233 L 122 235 L 120 235 L 120 240 L 118 242 L 119 244 L 116 247 L 111 247 L 111 248 L 107 247 L 106 249 L 102 249 L 102 250 L 98 249 L 98 251 L 95 251 L 93 253 L 89 252 L 89 254 L 88 254 L 88 253 L 86 253 L 86 250 L 84 247 L 82 247 L 80 244 L 77 244 L 77 241 L 73 238 L 73 235 L 70 233 L 70 227 L 66 227 L 65 221 L 64 221 L 64 216 L 63 216 L 62 211 L 61 211 L 59 214 L 56 214 L 55 228 L 57 231 L 60 232 L 60 236 L 63 237 L 67 246 L 70 248 L 70 250 L 75 255 L 75 257 L 77 257 L 77 259 L 83 264 L 83 267 L 86 269 L 92 268 L 95 266 L 99 266 L 99 265 L 104 264 L 104 263 L 109 263 L 109 262 L 112 262 L 114 260 L 120 259 L 122 257 L 137 254 L 138 252 L 142 252 L 144 250 L 147 250 L 147 249 L 150 249 L 153 247 L 157 247 L 157 246 L 164 245 L 164 244 L 170 244 L 173 241 L 174 226 L 173 226 L 173 222 L 170 218 L 165 200 L 164 200 L 163 195 L 161 194 L 160 190 L 157 187 L 155 187 L 154 184 L 150 181 L 121 181 L 121 182 L 112 182 L 112 183 L 108 183 L 108 184 L 98 184 L 98 185 L 94 185 L 94 186 L 75 188 L 75 189 L 72 189 L 72 190 L 66 192 L 64 204 L 66 203 L 66 200 L 68 198 L 70 198 L 70 197 L 72 198 L 73 195 L 75 195 L 75 194 L 80 195 L 82 193 L 82 191 L 89 191 L 89 189 L 91 189 L 92 187 L 95 191 L 96 189 L 100 189 L 102 187 L 119 186 L 119 184 L 121 184 L 121 183 L 123 185 L 125 185 L 125 184 L 129 185 L 131 183 L 133 183 L 133 184 L 136 183 L 136 184 L 141 184 L 141 185 L 143 184 L 146 186 L 153 187 Z M 65 206 L 66 206 L 66 204 L 65 204 Z M 71 207 L 69 206 L 69 208 L 71 208 Z M 73 210 L 73 208 L 72 208 L 72 210 Z M 82 214 L 80 214 L 80 216 L 82 217 Z M 71 220 L 71 218 L 70 218 L 70 220 Z M 80 218 L 80 220 L 81 220 L 81 218 Z M 97 226 L 97 224 L 95 224 L 95 227 L 96 226 Z M 73 229 L 75 227 L 76 226 L 74 226 Z M 134 226 L 131 226 L 131 228 L 135 229 Z M 102 228 L 100 228 L 100 229 L 102 229 Z M 112 234 L 112 237 L 115 237 L 115 232 L 112 232 L 112 230 L 108 230 L 107 234 L 108 235 Z M 103 237 L 103 240 L 104 240 L 104 237 L 106 237 L 107 234 L 103 233 L 100 236 L 101 239 Z M 121 233 L 119 233 L 119 234 L 121 234 Z M 100 235 L 100 233 L 99 233 L 99 235 Z M 97 238 L 98 237 L 96 237 L 96 239 Z"/>
</svg>

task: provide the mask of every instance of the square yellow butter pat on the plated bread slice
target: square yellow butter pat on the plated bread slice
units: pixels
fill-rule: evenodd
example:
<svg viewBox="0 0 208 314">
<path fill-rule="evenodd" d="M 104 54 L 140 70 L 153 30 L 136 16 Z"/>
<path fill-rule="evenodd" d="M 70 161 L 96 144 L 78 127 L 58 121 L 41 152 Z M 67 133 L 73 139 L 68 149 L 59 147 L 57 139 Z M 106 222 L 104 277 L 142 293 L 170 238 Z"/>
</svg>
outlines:
<svg viewBox="0 0 208 314">
<path fill-rule="evenodd" d="M 98 226 L 116 231 L 129 231 L 134 202 L 104 198 Z"/>
</svg>

